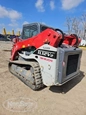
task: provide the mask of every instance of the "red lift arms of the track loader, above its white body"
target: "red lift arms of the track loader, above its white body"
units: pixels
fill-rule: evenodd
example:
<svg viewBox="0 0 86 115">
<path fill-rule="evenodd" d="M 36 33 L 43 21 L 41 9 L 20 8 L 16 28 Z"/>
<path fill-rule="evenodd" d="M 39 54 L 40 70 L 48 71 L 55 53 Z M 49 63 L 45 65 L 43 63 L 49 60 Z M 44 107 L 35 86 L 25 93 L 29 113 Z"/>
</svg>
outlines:
<svg viewBox="0 0 86 115">
<path fill-rule="evenodd" d="M 61 44 L 77 47 L 79 42 L 80 40 L 76 35 L 64 35 L 60 29 L 46 29 L 34 37 L 22 41 L 17 40 L 17 43 L 15 43 L 12 48 L 11 60 L 15 60 L 15 57 L 18 55 L 18 51 L 23 48 L 34 47 L 37 49 L 43 44 L 49 44 L 56 48 L 60 47 Z"/>
</svg>

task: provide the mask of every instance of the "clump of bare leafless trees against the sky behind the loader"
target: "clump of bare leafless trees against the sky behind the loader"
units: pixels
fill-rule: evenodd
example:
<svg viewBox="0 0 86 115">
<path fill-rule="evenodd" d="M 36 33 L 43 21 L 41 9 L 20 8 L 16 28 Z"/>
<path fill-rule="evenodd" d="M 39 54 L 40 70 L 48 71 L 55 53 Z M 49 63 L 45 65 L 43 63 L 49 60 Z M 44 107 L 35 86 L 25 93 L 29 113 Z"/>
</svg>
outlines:
<svg viewBox="0 0 86 115">
<path fill-rule="evenodd" d="M 86 40 L 86 13 L 82 14 L 80 18 L 66 18 L 67 33 L 75 33 L 82 39 Z"/>
</svg>

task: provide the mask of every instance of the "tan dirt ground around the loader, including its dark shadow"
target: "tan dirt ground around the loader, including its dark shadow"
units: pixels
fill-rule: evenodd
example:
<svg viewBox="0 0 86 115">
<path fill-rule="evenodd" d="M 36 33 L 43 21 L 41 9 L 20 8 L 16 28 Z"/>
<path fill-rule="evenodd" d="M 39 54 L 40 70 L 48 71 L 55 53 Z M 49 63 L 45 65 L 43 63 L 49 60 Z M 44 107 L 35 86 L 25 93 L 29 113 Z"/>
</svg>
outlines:
<svg viewBox="0 0 86 115">
<path fill-rule="evenodd" d="M 11 47 L 0 41 L 0 115 L 86 115 L 86 50 L 79 77 L 33 91 L 9 72 Z"/>
</svg>

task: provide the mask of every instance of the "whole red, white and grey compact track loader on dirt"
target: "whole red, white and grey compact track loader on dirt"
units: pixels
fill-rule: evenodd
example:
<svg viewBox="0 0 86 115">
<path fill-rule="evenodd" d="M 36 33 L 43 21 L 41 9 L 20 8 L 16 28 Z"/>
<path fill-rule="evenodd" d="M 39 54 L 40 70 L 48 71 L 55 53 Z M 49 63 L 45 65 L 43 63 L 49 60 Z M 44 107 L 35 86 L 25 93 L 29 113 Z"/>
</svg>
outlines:
<svg viewBox="0 0 86 115">
<path fill-rule="evenodd" d="M 13 39 L 9 70 L 31 89 L 60 86 L 79 76 L 80 38 L 40 23 L 23 26 Z"/>
</svg>

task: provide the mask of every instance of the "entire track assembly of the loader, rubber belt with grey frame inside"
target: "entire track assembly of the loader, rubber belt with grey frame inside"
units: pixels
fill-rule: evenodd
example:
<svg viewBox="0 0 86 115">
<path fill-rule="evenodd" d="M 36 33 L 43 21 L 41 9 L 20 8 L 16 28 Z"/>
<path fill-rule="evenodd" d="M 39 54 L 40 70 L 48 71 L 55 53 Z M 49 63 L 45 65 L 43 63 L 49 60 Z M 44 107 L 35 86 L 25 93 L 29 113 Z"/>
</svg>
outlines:
<svg viewBox="0 0 86 115">
<path fill-rule="evenodd" d="M 9 70 L 33 90 L 43 87 L 39 64 L 35 61 L 10 61 Z"/>
</svg>

